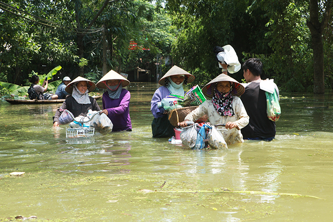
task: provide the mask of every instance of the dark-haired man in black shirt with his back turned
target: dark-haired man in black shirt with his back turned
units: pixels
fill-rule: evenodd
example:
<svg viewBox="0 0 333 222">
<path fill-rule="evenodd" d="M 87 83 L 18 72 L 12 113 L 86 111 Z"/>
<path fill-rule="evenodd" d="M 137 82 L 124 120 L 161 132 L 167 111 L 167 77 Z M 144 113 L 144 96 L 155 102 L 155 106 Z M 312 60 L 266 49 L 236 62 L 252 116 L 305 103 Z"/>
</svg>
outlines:
<svg viewBox="0 0 333 222">
<path fill-rule="evenodd" d="M 259 59 L 247 60 L 243 66 L 245 92 L 241 96 L 246 112 L 250 117 L 249 124 L 241 129 L 243 139 L 271 141 L 275 137 L 275 122 L 267 117 L 265 91 L 260 89 L 262 63 Z M 274 84 L 279 96 L 278 86 Z"/>
</svg>

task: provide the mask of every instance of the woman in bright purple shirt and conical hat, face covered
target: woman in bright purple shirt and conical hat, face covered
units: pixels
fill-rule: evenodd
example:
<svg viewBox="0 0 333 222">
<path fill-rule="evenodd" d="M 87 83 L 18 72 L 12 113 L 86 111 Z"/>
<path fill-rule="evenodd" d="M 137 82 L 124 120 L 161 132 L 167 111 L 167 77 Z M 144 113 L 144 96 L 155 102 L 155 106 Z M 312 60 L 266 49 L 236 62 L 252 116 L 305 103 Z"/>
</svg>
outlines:
<svg viewBox="0 0 333 222">
<path fill-rule="evenodd" d="M 113 123 L 113 132 L 132 131 L 129 109 L 131 93 L 123 88 L 129 84 L 130 81 L 113 70 L 106 73 L 96 84 L 98 88 L 106 89 L 102 96 L 101 113 Z"/>
</svg>

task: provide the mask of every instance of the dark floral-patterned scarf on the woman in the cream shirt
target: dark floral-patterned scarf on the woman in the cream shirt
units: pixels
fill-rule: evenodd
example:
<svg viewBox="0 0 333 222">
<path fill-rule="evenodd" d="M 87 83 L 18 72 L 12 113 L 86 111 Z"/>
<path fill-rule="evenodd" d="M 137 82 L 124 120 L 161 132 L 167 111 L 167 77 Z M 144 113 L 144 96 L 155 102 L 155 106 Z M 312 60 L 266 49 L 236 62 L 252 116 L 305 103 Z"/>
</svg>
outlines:
<svg viewBox="0 0 333 222">
<path fill-rule="evenodd" d="M 232 88 L 230 88 L 229 92 L 223 93 L 216 89 L 216 84 L 214 85 L 214 95 L 211 98 L 214 108 L 220 116 L 235 116 L 233 108 L 234 97 L 231 94 Z"/>
</svg>

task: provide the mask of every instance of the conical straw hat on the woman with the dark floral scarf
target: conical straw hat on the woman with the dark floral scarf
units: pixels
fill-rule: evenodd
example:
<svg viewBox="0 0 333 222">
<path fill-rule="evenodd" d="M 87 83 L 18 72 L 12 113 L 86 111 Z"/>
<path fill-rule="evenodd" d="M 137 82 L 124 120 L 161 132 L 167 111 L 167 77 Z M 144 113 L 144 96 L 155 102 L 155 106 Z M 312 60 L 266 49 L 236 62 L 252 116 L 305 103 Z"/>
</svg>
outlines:
<svg viewBox="0 0 333 222">
<path fill-rule="evenodd" d="M 211 80 L 209 83 L 207 83 L 203 88 L 202 88 L 202 93 L 206 96 L 206 98 L 212 98 L 213 97 L 213 84 L 216 84 L 221 81 L 229 81 L 231 82 L 231 85 L 233 87 L 231 94 L 240 96 L 244 93 L 245 88 L 240 84 L 237 80 L 233 79 L 230 76 L 227 76 L 226 74 L 220 74 L 217 76 L 215 79 Z"/>
</svg>

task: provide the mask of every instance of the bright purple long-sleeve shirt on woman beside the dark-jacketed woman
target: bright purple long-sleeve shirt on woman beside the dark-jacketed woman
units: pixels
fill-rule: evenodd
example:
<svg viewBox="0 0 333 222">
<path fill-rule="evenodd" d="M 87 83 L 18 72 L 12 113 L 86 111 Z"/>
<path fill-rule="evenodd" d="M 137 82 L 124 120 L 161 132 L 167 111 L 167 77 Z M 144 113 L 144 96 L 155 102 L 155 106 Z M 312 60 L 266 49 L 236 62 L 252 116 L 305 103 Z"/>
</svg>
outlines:
<svg viewBox="0 0 333 222">
<path fill-rule="evenodd" d="M 108 92 L 103 93 L 103 109 L 107 109 L 107 117 L 111 120 L 115 131 L 132 130 L 132 122 L 130 117 L 130 104 L 131 93 L 122 89 L 119 99 L 112 99 L 108 96 Z"/>
</svg>

